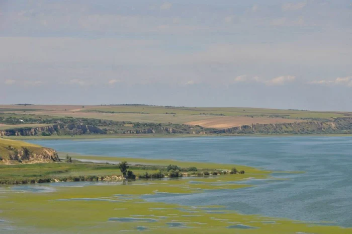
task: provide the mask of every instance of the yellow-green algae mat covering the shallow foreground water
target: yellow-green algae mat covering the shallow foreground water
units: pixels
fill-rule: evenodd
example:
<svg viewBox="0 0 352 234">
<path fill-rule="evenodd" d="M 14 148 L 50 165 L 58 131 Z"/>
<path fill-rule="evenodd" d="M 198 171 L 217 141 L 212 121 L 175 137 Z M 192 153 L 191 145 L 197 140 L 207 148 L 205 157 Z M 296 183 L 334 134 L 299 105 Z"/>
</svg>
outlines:
<svg viewBox="0 0 352 234">
<path fill-rule="evenodd" d="M 228 177 L 234 179 L 233 176 Z M 237 179 L 240 180 L 234 180 Z M 204 182 L 206 179 L 197 180 Z M 1 199 L 1 216 L 15 222 L 18 229 L 27 228 L 26 233 L 58 233 L 58 230 L 59 233 L 119 233 L 123 230 L 139 233 L 138 227 L 141 226 L 156 234 L 345 234 L 351 231 L 350 228 L 242 215 L 221 206 L 190 207 L 146 202 L 139 198 L 140 195 L 154 194 L 156 191 L 194 193 L 193 188 L 198 185 L 189 182 L 183 179 L 147 184 L 143 181 L 126 185 L 103 183 L 83 187 L 55 187 L 55 190 L 46 193 L 14 193 L 11 188 L 6 188 Z M 209 185 L 215 187 L 214 184 Z M 229 228 L 236 225 L 255 229 Z"/>
</svg>

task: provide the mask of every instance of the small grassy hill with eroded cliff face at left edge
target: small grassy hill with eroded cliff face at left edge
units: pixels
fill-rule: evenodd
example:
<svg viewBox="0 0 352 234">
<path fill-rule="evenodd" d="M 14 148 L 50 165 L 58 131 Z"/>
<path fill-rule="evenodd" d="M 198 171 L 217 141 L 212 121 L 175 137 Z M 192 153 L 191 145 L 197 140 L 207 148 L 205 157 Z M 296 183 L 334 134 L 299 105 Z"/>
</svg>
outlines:
<svg viewBox="0 0 352 234">
<path fill-rule="evenodd" d="M 60 161 L 57 152 L 24 141 L 0 138 L 0 163 L 43 163 Z"/>
</svg>

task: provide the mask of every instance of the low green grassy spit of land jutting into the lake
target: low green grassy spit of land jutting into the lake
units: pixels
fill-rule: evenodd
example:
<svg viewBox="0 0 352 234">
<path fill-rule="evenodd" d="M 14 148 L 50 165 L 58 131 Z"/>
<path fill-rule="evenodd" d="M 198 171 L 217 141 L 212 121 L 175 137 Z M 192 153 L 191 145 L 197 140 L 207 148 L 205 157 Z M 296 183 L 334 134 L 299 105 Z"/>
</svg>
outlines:
<svg viewBox="0 0 352 234">
<path fill-rule="evenodd" d="M 63 158 L 65 154 L 61 154 Z M 71 155 L 71 154 L 70 154 Z M 0 184 L 30 184 L 46 183 L 57 181 L 103 181 L 121 179 L 121 171 L 116 164 L 128 161 L 129 170 L 137 177 L 144 177 L 160 172 L 167 176 L 168 165 L 176 165 L 180 173 L 203 176 L 204 174 L 214 174 L 223 170 L 231 170 L 236 167 L 238 171 L 245 171 L 249 174 L 267 175 L 269 172 L 260 171 L 254 168 L 236 165 L 222 165 L 209 163 L 188 163 L 171 160 L 146 160 L 146 159 L 126 159 L 71 155 L 72 163 L 62 162 L 38 163 L 38 164 L 0 164 Z M 188 168 L 195 167 L 196 171 L 189 171 Z M 181 174 L 180 174 L 181 176 Z M 162 176 L 163 177 L 163 176 Z M 177 175 L 176 177 L 179 177 Z"/>
</svg>

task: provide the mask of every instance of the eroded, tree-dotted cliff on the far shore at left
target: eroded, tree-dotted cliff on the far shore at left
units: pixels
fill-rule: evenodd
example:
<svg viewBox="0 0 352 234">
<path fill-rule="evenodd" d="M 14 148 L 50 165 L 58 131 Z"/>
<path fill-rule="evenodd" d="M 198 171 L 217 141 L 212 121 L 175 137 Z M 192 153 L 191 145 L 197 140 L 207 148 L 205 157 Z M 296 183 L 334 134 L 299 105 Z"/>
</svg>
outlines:
<svg viewBox="0 0 352 234">
<path fill-rule="evenodd" d="M 0 136 L 35 136 L 35 135 L 81 135 L 105 134 L 102 129 L 84 124 L 54 124 L 45 127 L 24 127 L 0 131 Z"/>
</svg>

